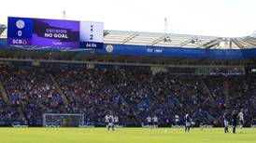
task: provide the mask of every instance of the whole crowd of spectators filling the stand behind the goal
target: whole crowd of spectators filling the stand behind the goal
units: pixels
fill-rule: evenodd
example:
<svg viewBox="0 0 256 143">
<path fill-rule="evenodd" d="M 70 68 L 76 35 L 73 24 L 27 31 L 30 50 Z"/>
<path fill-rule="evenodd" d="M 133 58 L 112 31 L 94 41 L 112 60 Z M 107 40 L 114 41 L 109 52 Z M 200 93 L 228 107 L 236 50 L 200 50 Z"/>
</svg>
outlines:
<svg viewBox="0 0 256 143">
<path fill-rule="evenodd" d="M 244 109 L 247 123 L 256 115 L 253 75 L 152 73 L 87 69 L 83 65 L 1 66 L 0 73 L 9 97 L 5 103 L 0 95 L 0 121 L 25 120 L 40 125 L 43 113 L 83 113 L 86 123 L 101 124 L 112 111 L 123 125 L 139 125 L 149 115 L 170 125 L 176 114 L 182 123 L 186 113 L 191 113 L 195 122 L 220 125 L 226 109 Z M 229 96 L 225 96 L 226 90 Z"/>
</svg>

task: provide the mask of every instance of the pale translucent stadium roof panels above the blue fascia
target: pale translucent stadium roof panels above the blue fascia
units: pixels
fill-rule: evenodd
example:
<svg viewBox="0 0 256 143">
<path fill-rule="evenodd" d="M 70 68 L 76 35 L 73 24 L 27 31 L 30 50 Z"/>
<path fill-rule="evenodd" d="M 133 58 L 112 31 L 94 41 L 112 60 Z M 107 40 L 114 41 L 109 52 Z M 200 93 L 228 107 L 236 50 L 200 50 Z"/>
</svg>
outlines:
<svg viewBox="0 0 256 143">
<path fill-rule="evenodd" d="M 7 38 L 7 26 L 0 25 L 0 38 Z M 256 47 L 256 34 L 245 37 L 216 37 L 158 32 L 104 31 L 104 42 L 121 45 L 155 45 L 206 49 L 245 49 Z"/>
</svg>

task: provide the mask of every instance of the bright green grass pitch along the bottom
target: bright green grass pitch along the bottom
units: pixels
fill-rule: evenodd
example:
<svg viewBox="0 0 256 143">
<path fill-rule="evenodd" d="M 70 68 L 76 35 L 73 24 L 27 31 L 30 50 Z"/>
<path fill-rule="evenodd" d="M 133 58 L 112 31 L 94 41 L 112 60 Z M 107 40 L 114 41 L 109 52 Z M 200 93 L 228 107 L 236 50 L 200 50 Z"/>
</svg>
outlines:
<svg viewBox="0 0 256 143">
<path fill-rule="evenodd" d="M 256 128 L 235 135 L 222 128 L 0 128 L 0 143 L 256 143 Z"/>
</svg>

